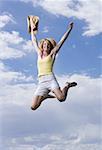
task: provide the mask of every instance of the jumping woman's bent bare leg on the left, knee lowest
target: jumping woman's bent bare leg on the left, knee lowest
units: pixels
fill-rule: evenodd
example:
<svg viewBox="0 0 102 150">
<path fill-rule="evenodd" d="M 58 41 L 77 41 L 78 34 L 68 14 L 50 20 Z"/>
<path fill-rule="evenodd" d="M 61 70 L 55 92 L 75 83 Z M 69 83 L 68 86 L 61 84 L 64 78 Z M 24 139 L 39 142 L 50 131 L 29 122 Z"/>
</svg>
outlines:
<svg viewBox="0 0 102 150">
<path fill-rule="evenodd" d="M 36 110 L 41 105 L 41 103 L 47 98 L 56 98 L 56 97 L 50 94 L 46 96 L 35 96 L 33 98 L 31 109 Z"/>
</svg>

